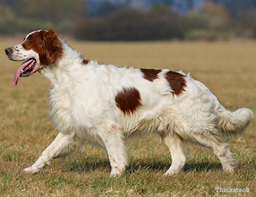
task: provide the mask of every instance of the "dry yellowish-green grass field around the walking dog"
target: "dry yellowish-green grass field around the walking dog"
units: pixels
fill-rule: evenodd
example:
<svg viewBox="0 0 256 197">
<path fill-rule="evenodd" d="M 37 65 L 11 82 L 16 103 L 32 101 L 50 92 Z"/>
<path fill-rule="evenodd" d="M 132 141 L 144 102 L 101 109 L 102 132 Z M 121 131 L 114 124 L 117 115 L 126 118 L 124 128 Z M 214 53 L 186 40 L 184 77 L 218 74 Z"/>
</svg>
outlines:
<svg viewBox="0 0 256 197">
<path fill-rule="evenodd" d="M 120 178 L 109 178 L 104 151 L 85 146 L 80 154 L 54 160 L 35 175 L 24 173 L 55 138 L 48 120 L 49 83 L 35 73 L 12 86 L 18 62 L 3 49 L 21 40 L 1 40 L 0 78 L 0 196 L 254 196 L 256 175 L 255 119 L 246 132 L 228 138 L 239 161 L 235 174 L 222 171 L 208 149 L 191 146 L 185 169 L 163 177 L 171 164 L 167 148 L 155 135 L 128 144 L 131 164 Z M 100 63 L 191 72 L 228 109 L 256 111 L 256 43 L 226 42 L 77 42 L 69 41 L 89 59 Z M 215 187 L 246 188 L 250 193 L 217 193 Z"/>
</svg>

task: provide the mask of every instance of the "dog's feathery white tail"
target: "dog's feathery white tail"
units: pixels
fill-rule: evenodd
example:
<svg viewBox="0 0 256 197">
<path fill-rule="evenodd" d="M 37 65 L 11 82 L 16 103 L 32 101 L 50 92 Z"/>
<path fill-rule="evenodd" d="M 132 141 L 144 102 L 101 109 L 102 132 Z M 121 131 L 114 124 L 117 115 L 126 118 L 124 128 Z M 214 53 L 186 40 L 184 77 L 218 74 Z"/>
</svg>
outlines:
<svg viewBox="0 0 256 197">
<path fill-rule="evenodd" d="M 224 135 L 242 133 L 253 120 L 253 111 L 247 108 L 231 112 L 221 106 L 217 114 L 219 116 L 219 127 Z"/>
</svg>

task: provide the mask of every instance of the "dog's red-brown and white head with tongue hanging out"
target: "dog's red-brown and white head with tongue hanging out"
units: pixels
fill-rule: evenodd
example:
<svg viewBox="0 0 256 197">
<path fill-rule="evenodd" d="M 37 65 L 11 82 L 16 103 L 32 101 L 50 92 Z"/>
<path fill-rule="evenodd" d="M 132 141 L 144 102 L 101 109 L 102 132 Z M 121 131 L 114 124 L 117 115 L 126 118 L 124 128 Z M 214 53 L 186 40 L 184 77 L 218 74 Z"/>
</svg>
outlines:
<svg viewBox="0 0 256 197">
<path fill-rule="evenodd" d="M 62 42 L 53 30 L 36 30 L 26 35 L 21 44 L 5 51 L 11 60 L 26 60 L 13 77 L 12 83 L 17 85 L 19 77 L 28 77 L 62 57 Z"/>
</svg>

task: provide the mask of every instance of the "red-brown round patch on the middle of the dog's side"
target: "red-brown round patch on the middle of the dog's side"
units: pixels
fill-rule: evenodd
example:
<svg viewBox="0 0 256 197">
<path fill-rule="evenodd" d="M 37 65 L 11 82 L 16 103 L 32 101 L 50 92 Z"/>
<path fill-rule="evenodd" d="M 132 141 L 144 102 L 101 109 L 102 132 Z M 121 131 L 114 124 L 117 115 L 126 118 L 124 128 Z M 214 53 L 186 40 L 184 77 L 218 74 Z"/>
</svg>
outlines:
<svg viewBox="0 0 256 197">
<path fill-rule="evenodd" d="M 136 88 L 123 88 L 116 95 L 116 106 L 125 114 L 134 113 L 142 106 L 140 93 Z"/>
</svg>

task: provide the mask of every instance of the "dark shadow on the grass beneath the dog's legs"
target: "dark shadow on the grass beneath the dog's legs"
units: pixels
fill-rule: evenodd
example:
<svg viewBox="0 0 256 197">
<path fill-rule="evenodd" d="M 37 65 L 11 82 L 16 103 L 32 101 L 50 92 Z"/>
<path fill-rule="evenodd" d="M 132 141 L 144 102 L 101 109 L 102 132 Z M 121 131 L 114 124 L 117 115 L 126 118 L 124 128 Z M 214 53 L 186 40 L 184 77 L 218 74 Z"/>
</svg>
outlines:
<svg viewBox="0 0 256 197">
<path fill-rule="evenodd" d="M 167 171 L 169 169 L 169 162 L 157 162 L 157 161 L 134 161 L 131 162 L 127 167 L 125 173 L 135 173 L 139 169 L 152 169 L 155 171 Z M 77 171 L 77 172 L 88 172 L 95 171 L 98 169 L 109 169 L 109 160 L 98 160 L 98 161 L 80 161 L 80 162 L 71 162 L 66 164 L 66 171 Z M 190 171 L 215 171 L 221 170 L 221 164 L 218 162 L 188 162 L 183 168 L 184 172 Z"/>
</svg>

